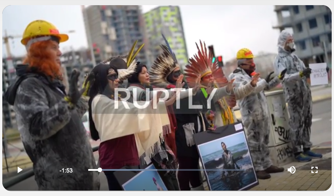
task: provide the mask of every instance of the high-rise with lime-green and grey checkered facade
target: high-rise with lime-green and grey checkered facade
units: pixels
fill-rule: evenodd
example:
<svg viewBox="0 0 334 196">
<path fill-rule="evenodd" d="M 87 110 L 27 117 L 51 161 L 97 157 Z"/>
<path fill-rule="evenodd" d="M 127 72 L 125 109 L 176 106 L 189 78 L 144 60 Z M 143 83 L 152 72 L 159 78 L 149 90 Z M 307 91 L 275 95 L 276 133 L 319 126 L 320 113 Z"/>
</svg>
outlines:
<svg viewBox="0 0 334 196">
<path fill-rule="evenodd" d="M 144 14 L 148 39 L 148 58 L 151 63 L 160 54 L 160 44 L 165 44 L 161 33 L 168 40 L 181 66 L 188 62 L 188 52 L 179 6 L 159 6 Z M 150 65 L 149 65 L 150 66 Z"/>
</svg>

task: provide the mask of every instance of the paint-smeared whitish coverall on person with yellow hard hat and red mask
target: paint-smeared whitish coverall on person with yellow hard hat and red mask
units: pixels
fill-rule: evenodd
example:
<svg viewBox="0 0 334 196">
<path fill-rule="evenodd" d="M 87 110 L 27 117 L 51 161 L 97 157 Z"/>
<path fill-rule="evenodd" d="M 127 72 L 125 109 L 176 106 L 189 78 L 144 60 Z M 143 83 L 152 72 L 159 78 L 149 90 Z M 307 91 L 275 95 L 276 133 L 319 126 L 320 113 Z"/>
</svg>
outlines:
<svg viewBox="0 0 334 196">
<path fill-rule="evenodd" d="M 244 70 L 237 68 L 229 75 L 240 86 L 252 80 Z M 265 79 L 259 79 L 257 86 L 248 96 L 237 100 L 242 123 L 246 129 L 249 151 L 251 152 L 256 171 L 269 168 L 272 162 L 269 158 L 270 119 L 267 99 L 264 90 L 274 88 L 281 82 L 278 77 L 269 84 Z"/>
</svg>

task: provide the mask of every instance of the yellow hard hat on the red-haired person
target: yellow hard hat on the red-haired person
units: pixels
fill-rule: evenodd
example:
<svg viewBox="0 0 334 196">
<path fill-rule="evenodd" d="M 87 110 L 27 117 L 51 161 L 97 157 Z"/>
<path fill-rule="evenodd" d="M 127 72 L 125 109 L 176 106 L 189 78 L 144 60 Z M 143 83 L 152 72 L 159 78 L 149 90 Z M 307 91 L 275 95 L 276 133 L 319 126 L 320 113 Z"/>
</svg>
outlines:
<svg viewBox="0 0 334 196">
<path fill-rule="evenodd" d="M 35 20 L 25 28 L 21 43 L 27 45 L 29 39 L 39 36 L 55 36 L 59 38 L 59 42 L 68 40 L 68 35 L 59 34 L 58 29 L 53 24 L 45 20 Z"/>
</svg>

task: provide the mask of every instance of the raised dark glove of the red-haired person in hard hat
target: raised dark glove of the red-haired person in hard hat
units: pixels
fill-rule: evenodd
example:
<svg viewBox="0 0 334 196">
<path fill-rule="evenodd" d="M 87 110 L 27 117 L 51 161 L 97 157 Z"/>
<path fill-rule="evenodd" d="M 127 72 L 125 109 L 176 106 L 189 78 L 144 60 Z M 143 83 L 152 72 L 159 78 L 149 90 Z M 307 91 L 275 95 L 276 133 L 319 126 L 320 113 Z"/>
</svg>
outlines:
<svg viewBox="0 0 334 196">
<path fill-rule="evenodd" d="M 74 107 L 76 103 L 79 101 L 82 93 L 86 90 L 86 88 L 82 88 L 80 91 L 78 90 L 78 78 L 80 72 L 77 70 L 73 70 L 71 73 L 71 78 L 69 81 L 69 90 L 68 95 L 64 98 L 71 107 Z"/>
</svg>

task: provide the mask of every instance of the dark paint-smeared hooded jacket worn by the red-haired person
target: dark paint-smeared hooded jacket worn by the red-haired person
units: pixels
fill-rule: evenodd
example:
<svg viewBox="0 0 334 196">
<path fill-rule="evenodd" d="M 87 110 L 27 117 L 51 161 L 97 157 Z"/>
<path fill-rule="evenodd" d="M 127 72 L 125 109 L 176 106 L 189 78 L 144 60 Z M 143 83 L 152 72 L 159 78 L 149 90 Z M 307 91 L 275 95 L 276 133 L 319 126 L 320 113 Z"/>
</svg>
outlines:
<svg viewBox="0 0 334 196">
<path fill-rule="evenodd" d="M 88 171 L 97 167 L 81 121 L 87 101 L 81 98 L 69 110 L 63 92 L 45 77 L 27 78 L 10 93 L 16 97 L 18 130 L 38 189 L 99 190 L 98 172 Z"/>
</svg>

